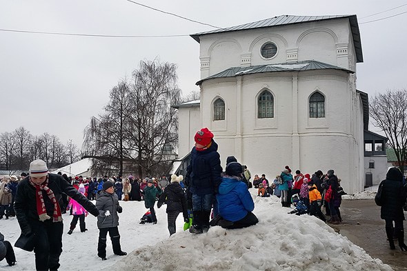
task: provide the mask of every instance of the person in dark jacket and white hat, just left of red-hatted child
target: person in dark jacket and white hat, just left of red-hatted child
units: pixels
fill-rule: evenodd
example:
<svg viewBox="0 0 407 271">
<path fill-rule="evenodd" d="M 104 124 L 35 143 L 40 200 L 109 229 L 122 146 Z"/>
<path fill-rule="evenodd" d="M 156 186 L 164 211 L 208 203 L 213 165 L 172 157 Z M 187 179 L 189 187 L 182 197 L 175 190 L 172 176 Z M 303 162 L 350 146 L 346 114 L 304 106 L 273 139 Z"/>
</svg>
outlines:
<svg viewBox="0 0 407 271">
<path fill-rule="evenodd" d="M 183 192 L 181 185 L 179 185 L 179 182 L 182 180 L 182 175 L 177 177 L 177 175 L 172 174 L 171 183 L 166 186 L 166 189 L 163 191 L 163 194 L 161 194 L 161 197 L 159 197 L 159 201 L 157 203 L 158 208 L 160 208 L 164 202 L 167 205 L 166 212 L 170 236 L 177 232 L 175 221 L 177 221 L 177 217 L 180 212 L 183 214 L 183 221 L 189 222 L 185 193 Z"/>
</svg>

